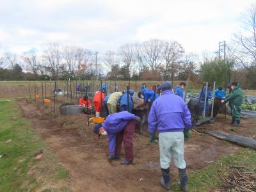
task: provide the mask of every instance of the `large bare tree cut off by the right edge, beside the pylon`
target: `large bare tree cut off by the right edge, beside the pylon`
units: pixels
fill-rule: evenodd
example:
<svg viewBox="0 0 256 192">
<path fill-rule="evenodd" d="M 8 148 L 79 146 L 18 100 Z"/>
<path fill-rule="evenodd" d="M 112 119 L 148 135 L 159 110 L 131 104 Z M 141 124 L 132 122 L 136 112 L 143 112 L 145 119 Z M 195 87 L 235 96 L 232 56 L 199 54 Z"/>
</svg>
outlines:
<svg viewBox="0 0 256 192">
<path fill-rule="evenodd" d="M 243 31 L 234 35 L 232 54 L 244 68 L 256 65 L 256 4 L 251 6 L 242 19 Z"/>
</svg>

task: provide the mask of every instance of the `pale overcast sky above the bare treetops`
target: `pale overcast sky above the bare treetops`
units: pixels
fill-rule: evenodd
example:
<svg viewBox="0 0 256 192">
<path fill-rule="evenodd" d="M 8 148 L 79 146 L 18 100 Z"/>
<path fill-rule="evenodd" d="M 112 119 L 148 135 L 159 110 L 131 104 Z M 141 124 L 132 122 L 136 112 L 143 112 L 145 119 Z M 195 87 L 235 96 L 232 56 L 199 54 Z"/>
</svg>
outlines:
<svg viewBox="0 0 256 192">
<path fill-rule="evenodd" d="M 252 0 L 0 0 L 0 45 L 21 53 L 45 42 L 116 51 L 150 38 L 186 52 L 216 51 Z"/>
</svg>

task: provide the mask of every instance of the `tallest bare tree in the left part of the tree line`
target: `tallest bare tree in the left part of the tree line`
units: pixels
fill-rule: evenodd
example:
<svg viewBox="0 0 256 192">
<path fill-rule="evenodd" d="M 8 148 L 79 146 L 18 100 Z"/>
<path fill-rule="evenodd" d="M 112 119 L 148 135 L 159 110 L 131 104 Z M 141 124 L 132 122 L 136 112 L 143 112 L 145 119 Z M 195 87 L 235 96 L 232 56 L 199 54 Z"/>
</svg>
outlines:
<svg viewBox="0 0 256 192">
<path fill-rule="evenodd" d="M 51 76 L 58 80 L 60 68 L 60 46 L 56 43 L 45 44 L 43 58 Z"/>
</svg>

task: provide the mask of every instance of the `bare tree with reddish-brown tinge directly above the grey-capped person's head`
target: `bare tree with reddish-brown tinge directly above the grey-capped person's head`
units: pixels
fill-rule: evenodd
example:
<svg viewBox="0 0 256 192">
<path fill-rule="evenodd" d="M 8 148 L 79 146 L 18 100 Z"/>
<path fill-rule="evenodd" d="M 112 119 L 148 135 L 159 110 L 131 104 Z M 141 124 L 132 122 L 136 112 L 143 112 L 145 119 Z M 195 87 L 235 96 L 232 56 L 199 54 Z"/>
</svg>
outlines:
<svg viewBox="0 0 256 192">
<path fill-rule="evenodd" d="M 172 75 L 172 81 L 175 72 L 177 72 L 179 65 L 178 61 L 181 58 L 182 54 L 184 54 L 184 49 L 178 42 L 164 42 L 163 48 L 163 76 L 164 80 L 167 80 L 170 75 Z"/>
</svg>

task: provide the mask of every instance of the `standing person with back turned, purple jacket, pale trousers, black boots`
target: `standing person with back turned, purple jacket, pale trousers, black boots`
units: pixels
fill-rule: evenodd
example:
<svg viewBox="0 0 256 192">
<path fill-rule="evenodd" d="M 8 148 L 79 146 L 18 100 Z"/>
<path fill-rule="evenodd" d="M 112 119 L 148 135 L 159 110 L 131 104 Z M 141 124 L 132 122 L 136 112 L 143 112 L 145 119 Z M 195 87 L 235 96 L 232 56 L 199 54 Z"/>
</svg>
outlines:
<svg viewBox="0 0 256 192">
<path fill-rule="evenodd" d="M 172 92 L 172 83 L 164 82 L 159 86 L 162 91 L 152 104 L 148 115 L 148 131 L 159 132 L 160 165 L 162 171 L 161 185 L 171 189 L 170 163 L 173 157 L 179 169 L 180 188 L 188 191 L 188 175 L 184 161 L 184 134 L 191 129 L 191 114 L 183 99 Z"/>
</svg>

